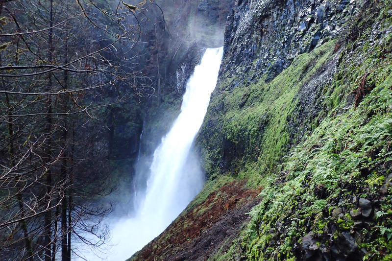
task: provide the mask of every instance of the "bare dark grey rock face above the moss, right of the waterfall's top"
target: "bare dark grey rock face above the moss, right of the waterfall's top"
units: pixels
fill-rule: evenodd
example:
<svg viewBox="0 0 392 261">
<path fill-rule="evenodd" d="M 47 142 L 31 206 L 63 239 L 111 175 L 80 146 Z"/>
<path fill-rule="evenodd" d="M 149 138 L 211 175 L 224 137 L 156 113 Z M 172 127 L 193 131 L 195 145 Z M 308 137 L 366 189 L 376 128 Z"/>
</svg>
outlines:
<svg viewBox="0 0 392 261">
<path fill-rule="evenodd" d="M 273 78 L 293 59 L 335 38 L 360 1 L 236 1 L 225 33 L 223 72 Z M 245 74 L 243 74 L 245 76 Z M 270 80 L 268 78 L 268 80 Z"/>
</svg>

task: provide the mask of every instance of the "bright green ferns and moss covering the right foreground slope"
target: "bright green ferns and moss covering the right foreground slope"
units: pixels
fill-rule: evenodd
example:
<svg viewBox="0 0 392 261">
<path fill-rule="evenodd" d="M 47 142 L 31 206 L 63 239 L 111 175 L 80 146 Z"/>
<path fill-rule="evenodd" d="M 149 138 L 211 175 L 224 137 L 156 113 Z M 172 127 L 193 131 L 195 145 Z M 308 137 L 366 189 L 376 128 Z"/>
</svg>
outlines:
<svg viewBox="0 0 392 261">
<path fill-rule="evenodd" d="M 391 150 L 391 68 L 389 61 L 385 61 L 381 67 L 373 68 L 372 79 L 376 83 L 374 89 L 358 108 L 340 114 L 338 111 L 342 107 L 341 103 L 345 102 L 344 98 L 348 95 L 344 90 L 350 83 L 341 86 L 335 82 L 335 86 L 339 88 L 335 88 L 334 92 L 342 101 L 338 102 L 335 110 L 330 112 L 312 135 L 298 145 L 285 161 L 282 173 L 286 174 L 287 181 L 283 185 L 271 181 L 262 191 L 262 202 L 252 211 L 252 220 L 242 244 L 247 248 L 249 260 L 268 259 L 270 254 L 263 252 L 263 249 L 270 247 L 289 257 L 291 250 L 285 243 L 291 242 L 293 235 L 299 240 L 306 234 L 304 230 L 298 233 L 294 229 L 300 227 L 300 218 L 309 217 L 315 220 L 312 230 L 317 235 L 326 233 L 325 229 L 330 221 L 320 219 L 322 211 L 327 211 L 328 204 L 342 197 L 345 193 L 343 184 L 357 187 L 363 191 L 360 195 L 364 197 L 375 193 L 384 184 L 384 174 L 376 169 L 385 164 L 386 154 Z M 364 69 L 357 67 L 354 70 Z M 340 81 L 339 78 L 335 80 Z M 354 78 L 351 80 L 357 81 Z M 340 93 L 337 90 L 340 90 Z M 364 168 L 371 172 L 369 176 L 361 174 L 364 173 Z M 323 191 L 325 198 L 318 199 L 319 190 Z M 350 190 L 347 192 L 346 195 L 351 194 Z M 298 207 L 297 202 L 301 202 L 301 207 Z M 350 204 L 347 206 L 352 207 Z M 270 238 L 266 232 L 276 227 L 277 223 L 287 223 L 288 220 L 291 220 L 292 225 L 277 236 L 282 243 L 269 245 Z M 348 213 L 334 222 L 343 231 L 352 229 L 354 224 Z M 379 231 L 375 231 L 382 239 L 375 239 L 364 246 L 369 253 L 391 251 L 390 234 L 388 229 L 384 229 L 388 228 L 385 222 L 389 224 L 390 221 L 385 218 L 379 222 L 384 225 L 380 225 Z M 380 231 L 381 228 L 384 233 Z"/>
</svg>

